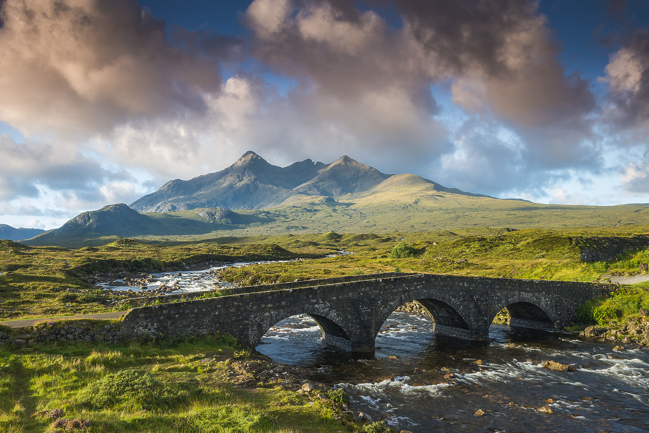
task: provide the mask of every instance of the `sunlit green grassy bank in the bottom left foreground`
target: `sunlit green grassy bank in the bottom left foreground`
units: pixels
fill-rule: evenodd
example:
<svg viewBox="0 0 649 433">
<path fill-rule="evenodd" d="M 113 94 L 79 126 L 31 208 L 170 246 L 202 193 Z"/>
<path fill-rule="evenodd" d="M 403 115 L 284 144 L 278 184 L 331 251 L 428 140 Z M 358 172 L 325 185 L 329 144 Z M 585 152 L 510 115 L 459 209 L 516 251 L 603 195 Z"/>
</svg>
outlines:
<svg viewBox="0 0 649 433">
<path fill-rule="evenodd" d="M 3 432 L 346 430 L 307 397 L 274 386 L 234 386 L 226 361 L 238 348 L 216 338 L 34 348 L 0 349 Z"/>
</svg>

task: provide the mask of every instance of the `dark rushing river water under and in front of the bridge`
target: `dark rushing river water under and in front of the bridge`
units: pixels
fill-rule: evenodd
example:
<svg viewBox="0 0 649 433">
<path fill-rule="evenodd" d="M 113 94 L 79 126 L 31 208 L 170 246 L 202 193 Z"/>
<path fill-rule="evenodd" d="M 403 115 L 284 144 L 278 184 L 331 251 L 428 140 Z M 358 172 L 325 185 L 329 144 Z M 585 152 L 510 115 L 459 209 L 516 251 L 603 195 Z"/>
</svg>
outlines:
<svg viewBox="0 0 649 433">
<path fill-rule="evenodd" d="M 387 328 L 386 326 L 390 326 Z M 649 353 L 566 334 L 493 325 L 489 343 L 434 338 L 427 317 L 394 313 L 369 359 L 326 347 L 306 315 L 272 328 L 257 347 L 278 362 L 315 367 L 356 410 L 415 432 L 646 432 Z M 580 365 L 571 373 L 545 360 Z M 537 408 L 548 406 L 552 414 Z M 486 412 L 474 415 L 476 410 Z"/>
</svg>

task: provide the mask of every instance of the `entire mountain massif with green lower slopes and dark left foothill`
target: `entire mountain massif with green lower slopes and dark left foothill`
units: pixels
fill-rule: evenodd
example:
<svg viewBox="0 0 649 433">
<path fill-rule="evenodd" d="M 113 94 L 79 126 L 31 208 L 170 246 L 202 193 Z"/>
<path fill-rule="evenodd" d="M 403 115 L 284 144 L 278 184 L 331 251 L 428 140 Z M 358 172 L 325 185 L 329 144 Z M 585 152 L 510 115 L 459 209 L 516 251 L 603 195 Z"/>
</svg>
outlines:
<svg viewBox="0 0 649 433">
<path fill-rule="evenodd" d="M 497 199 L 417 175 L 386 175 L 349 156 L 331 164 L 307 159 L 277 167 L 254 152 L 216 173 L 171 180 L 131 206 L 111 204 L 84 212 L 60 229 L 22 243 L 82 247 L 118 237 L 167 242 L 332 230 L 562 229 L 649 221 L 647 204 L 570 206 Z"/>
</svg>

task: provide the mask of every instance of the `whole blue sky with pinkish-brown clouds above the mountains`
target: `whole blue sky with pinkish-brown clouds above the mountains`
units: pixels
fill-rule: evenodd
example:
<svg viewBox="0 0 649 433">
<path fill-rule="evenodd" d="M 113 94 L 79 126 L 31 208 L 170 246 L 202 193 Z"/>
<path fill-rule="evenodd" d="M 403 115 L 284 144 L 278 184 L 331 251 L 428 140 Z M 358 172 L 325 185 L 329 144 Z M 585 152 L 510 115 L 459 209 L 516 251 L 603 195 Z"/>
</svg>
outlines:
<svg viewBox="0 0 649 433">
<path fill-rule="evenodd" d="M 0 0 L 0 223 L 252 150 L 649 203 L 649 0 Z"/>
</svg>

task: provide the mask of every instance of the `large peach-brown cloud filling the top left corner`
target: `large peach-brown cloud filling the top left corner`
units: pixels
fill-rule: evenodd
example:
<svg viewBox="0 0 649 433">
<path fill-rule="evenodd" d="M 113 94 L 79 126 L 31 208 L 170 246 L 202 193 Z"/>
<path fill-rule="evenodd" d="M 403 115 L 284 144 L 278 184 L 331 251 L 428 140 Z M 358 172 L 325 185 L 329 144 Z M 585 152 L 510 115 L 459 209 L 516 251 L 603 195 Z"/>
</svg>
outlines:
<svg viewBox="0 0 649 433">
<path fill-rule="evenodd" d="M 221 88 L 220 59 L 174 46 L 165 22 L 135 0 L 6 0 L 0 8 L 0 120 L 29 135 L 84 137 L 201 113 L 204 94 Z"/>
</svg>

